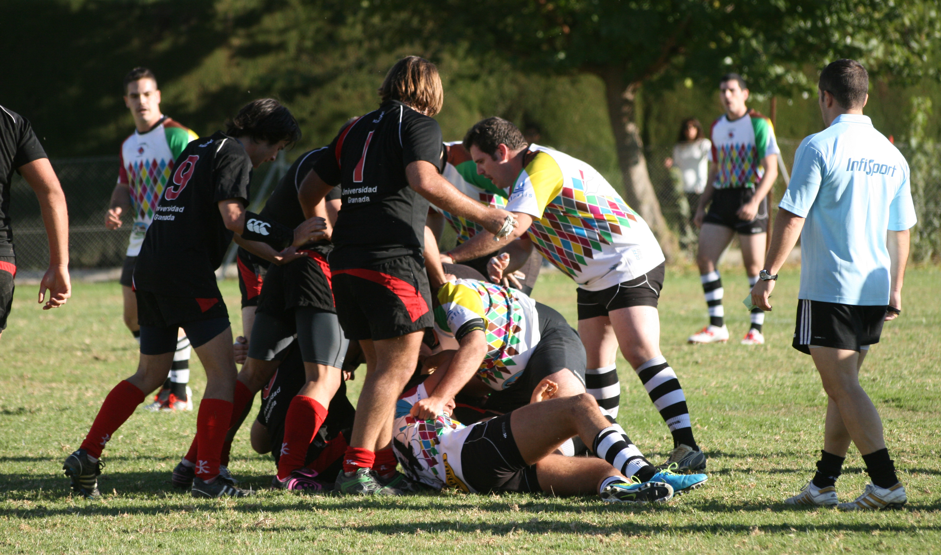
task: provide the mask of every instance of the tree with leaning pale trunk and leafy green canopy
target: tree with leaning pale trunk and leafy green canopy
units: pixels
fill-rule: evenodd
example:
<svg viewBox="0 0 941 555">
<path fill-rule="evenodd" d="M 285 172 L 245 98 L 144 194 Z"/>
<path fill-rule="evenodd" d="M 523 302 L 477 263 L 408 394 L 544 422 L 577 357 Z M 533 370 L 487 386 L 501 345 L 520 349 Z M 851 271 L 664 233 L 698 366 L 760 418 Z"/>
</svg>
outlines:
<svg viewBox="0 0 941 555">
<path fill-rule="evenodd" d="M 364 3 L 366 5 L 366 3 Z M 837 57 L 874 73 L 917 76 L 938 38 L 935 4 L 920 0 L 375 0 L 391 43 L 454 46 L 524 71 L 584 72 L 605 87 L 625 196 L 673 258 L 646 169 L 636 113 L 646 83 L 715 82 L 733 69 L 767 92 L 810 88 L 808 71 Z"/>
</svg>

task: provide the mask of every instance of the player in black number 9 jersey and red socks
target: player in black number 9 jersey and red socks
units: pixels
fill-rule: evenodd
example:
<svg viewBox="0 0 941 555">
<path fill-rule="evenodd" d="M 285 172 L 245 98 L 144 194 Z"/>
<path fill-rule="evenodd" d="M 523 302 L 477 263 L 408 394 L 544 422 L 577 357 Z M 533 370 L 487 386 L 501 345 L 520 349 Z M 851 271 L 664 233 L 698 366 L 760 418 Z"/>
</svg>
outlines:
<svg viewBox="0 0 941 555">
<path fill-rule="evenodd" d="M 183 327 L 207 377 L 199 403 L 192 495 L 247 494 L 219 476 L 236 372 L 229 313 L 215 270 L 233 239 L 263 254 L 260 243 L 277 250 L 302 246 L 325 229 L 322 218 L 311 218 L 291 230 L 245 210 L 252 169 L 273 160 L 299 137 L 300 129 L 288 109 L 262 99 L 244 106 L 226 133 L 193 141 L 180 154 L 180 164 L 172 182 L 167 182 L 135 265 L 140 364 L 133 376 L 111 390 L 81 448 L 63 465 L 77 493 L 98 495 L 97 476 L 104 466 L 99 459 L 105 444 L 146 393 L 166 379 L 177 328 Z"/>
</svg>

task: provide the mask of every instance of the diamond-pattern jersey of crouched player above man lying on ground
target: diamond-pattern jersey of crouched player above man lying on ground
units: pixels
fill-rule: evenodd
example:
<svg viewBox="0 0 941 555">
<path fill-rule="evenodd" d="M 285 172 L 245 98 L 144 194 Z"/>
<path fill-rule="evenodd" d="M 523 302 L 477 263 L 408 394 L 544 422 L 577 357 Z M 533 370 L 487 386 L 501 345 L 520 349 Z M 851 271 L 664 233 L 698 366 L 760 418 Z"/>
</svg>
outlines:
<svg viewBox="0 0 941 555">
<path fill-rule="evenodd" d="M 492 389 L 506 389 L 526 370 L 539 342 L 535 301 L 516 289 L 476 279 L 456 279 L 438 290 L 435 328 L 454 337 L 462 327 L 483 322 L 486 355 L 477 377 Z"/>
</svg>

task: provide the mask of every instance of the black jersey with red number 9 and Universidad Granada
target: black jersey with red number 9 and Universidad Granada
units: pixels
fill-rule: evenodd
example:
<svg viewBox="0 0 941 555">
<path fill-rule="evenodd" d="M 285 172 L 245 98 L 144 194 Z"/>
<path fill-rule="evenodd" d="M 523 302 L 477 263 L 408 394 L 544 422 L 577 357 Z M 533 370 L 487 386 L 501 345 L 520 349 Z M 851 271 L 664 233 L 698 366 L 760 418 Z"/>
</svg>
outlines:
<svg viewBox="0 0 941 555">
<path fill-rule="evenodd" d="M 218 298 L 215 270 L 232 240 L 218 203 L 248 204 L 251 158 L 221 131 L 189 143 L 153 214 L 134 270 L 141 291 L 169 296 Z"/>
</svg>

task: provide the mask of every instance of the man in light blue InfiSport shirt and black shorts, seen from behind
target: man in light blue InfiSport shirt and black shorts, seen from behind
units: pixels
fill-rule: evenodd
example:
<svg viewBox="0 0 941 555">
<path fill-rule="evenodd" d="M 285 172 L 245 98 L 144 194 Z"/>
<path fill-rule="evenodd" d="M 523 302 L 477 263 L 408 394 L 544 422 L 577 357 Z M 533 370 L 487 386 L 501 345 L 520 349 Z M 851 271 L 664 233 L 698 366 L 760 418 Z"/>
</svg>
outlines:
<svg viewBox="0 0 941 555">
<path fill-rule="evenodd" d="M 882 420 L 859 385 L 869 345 L 901 313 L 908 230 L 915 225 L 908 164 L 863 116 L 869 75 L 839 59 L 821 71 L 826 129 L 801 142 L 752 302 L 771 310 L 777 271 L 801 237 L 801 289 L 793 346 L 809 354 L 829 396 L 817 473 L 795 505 L 847 511 L 899 508 L 907 498 L 885 449 Z M 850 441 L 872 483 L 837 504 L 836 481 Z"/>
</svg>

